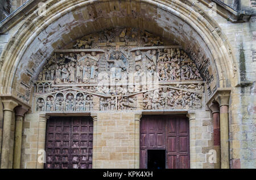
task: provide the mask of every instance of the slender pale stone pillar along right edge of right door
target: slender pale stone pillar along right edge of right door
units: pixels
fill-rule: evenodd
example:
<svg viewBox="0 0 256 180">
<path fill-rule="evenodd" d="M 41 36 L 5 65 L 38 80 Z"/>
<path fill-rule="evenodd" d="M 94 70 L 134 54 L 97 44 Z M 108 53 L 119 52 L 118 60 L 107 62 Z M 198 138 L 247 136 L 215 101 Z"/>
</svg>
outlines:
<svg viewBox="0 0 256 180">
<path fill-rule="evenodd" d="M 190 168 L 196 168 L 196 113 L 188 112 Z"/>
</svg>

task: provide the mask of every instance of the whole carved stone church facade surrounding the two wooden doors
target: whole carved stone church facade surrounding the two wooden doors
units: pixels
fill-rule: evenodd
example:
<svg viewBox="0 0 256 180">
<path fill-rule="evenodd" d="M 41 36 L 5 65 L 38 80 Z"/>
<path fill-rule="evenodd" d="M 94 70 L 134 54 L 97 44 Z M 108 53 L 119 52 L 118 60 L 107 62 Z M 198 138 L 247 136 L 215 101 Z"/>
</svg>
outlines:
<svg viewBox="0 0 256 180">
<path fill-rule="evenodd" d="M 92 116 L 93 168 L 139 168 L 139 119 L 164 113 L 187 114 L 191 168 L 255 168 L 254 1 L 53 0 L 46 16 L 39 2 L 0 23 L 1 168 L 43 168 L 54 115 Z M 156 72 L 158 87 L 111 91 L 104 71 Z"/>
</svg>

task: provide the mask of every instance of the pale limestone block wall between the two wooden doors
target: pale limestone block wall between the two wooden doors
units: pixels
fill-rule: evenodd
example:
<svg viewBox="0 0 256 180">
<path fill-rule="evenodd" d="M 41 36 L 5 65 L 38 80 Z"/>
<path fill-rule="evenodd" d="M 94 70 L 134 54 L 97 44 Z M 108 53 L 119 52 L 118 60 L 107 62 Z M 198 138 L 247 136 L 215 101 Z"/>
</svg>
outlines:
<svg viewBox="0 0 256 180">
<path fill-rule="evenodd" d="M 135 147 L 135 114 L 98 113 L 97 118 L 93 168 L 139 168 L 135 158 L 139 155 L 139 147 Z"/>
</svg>

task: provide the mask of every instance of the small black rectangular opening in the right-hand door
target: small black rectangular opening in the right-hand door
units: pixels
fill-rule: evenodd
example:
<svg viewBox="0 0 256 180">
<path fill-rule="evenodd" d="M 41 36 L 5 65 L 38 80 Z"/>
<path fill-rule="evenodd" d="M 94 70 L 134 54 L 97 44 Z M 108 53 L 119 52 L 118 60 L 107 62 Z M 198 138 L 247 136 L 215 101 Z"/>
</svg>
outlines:
<svg viewBox="0 0 256 180">
<path fill-rule="evenodd" d="M 148 169 L 166 169 L 166 150 L 148 149 L 147 150 L 147 168 Z"/>
</svg>

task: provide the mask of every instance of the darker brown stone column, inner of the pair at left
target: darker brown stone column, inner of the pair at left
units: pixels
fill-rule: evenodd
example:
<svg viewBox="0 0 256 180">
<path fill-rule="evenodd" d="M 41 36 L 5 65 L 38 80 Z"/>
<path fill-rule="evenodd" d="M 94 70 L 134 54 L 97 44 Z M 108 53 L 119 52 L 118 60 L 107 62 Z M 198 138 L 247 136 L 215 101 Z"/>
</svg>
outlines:
<svg viewBox="0 0 256 180">
<path fill-rule="evenodd" d="M 15 108 L 15 141 L 14 141 L 14 158 L 13 158 L 13 168 L 20 169 L 20 155 L 21 155 L 21 145 L 22 145 L 22 123 L 24 114 L 28 111 L 27 108 L 23 106 L 18 106 Z"/>
</svg>

